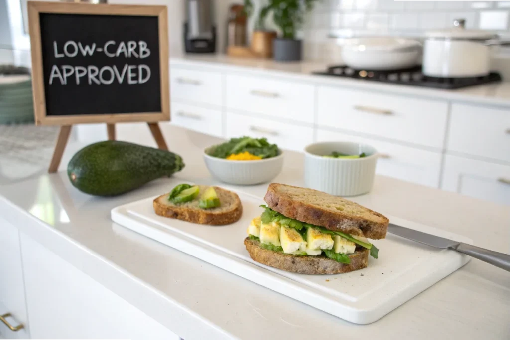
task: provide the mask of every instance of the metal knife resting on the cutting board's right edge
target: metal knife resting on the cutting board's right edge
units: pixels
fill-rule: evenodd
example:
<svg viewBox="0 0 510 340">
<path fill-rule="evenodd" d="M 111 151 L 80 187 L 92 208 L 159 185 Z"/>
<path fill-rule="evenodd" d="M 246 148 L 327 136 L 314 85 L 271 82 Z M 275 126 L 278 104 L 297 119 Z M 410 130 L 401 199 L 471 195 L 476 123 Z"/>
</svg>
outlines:
<svg viewBox="0 0 510 340">
<path fill-rule="evenodd" d="M 405 237 L 416 242 L 427 244 L 436 248 L 451 249 L 469 255 L 472 258 L 487 262 L 493 266 L 499 267 L 510 272 L 510 255 L 502 252 L 492 251 L 489 249 L 480 248 L 472 244 L 453 241 L 422 233 L 414 229 L 404 228 L 403 226 L 390 223 L 388 231 L 392 234 Z"/>
</svg>

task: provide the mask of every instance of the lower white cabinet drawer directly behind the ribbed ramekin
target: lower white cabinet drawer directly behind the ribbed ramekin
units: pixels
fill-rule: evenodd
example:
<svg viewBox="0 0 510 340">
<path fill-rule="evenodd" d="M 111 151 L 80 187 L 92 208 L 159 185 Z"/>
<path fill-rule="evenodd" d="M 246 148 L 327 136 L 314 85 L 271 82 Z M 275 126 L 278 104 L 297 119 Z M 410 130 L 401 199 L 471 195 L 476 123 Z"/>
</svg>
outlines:
<svg viewBox="0 0 510 340">
<path fill-rule="evenodd" d="M 368 144 L 381 155 L 377 159 L 376 174 L 434 188 L 439 187 L 441 173 L 441 153 L 439 152 L 321 129 L 317 131 L 317 139 L 318 141 L 338 140 Z"/>
</svg>

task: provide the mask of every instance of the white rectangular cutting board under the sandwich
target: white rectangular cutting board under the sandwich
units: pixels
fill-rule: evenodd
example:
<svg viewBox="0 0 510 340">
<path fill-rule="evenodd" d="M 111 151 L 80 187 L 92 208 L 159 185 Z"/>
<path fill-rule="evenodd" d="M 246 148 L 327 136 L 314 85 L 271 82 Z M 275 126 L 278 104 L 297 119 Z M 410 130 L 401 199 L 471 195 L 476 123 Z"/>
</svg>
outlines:
<svg viewBox="0 0 510 340">
<path fill-rule="evenodd" d="M 338 275 L 301 275 L 250 259 L 243 240 L 253 217 L 260 216 L 260 197 L 237 192 L 243 215 L 230 225 L 212 226 L 155 214 L 156 197 L 116 207 L 114 222 L 257 284 L 357 324 L 378 320 L 469 262 L 456 251 L 436 249 L 388 233 L 374 240 L 379 259 L 368 267 Z M 472 240 L 430 226 L 387 216 L 392 223 L 472 244 Z"/>
</svg>

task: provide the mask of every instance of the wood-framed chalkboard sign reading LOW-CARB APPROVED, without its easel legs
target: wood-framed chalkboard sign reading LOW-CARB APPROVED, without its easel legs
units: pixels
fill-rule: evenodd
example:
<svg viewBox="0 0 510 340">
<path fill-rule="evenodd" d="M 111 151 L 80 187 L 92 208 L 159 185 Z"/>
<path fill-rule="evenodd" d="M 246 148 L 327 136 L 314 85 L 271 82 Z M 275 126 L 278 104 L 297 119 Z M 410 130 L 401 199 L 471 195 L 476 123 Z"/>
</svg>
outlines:
<svg viewBox="0 0 510 340">
<path fill-rule="evenodd" d="M 169 120 L 163 6 L 29 2 L 36 124 Z"/>
</svg>

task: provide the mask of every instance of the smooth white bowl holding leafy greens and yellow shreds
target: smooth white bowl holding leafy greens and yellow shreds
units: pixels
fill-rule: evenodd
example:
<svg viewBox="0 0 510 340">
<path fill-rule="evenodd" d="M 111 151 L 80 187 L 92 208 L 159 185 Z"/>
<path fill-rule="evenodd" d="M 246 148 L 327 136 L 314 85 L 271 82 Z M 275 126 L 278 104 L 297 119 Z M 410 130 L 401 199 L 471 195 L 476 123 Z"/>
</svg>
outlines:
<svg viewBox="0 0 510 340">
<path fill-rule="evenodd" d="M 217 180 L 236 185 L 255 185 L 271 181 L 284 165 L 283 151 L 275 157 L 258 160 L 231 160 L 213 157 L 203 152 L 207 169 Z"/>
</svg>

